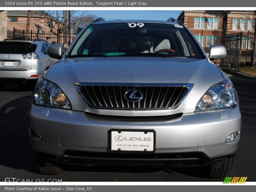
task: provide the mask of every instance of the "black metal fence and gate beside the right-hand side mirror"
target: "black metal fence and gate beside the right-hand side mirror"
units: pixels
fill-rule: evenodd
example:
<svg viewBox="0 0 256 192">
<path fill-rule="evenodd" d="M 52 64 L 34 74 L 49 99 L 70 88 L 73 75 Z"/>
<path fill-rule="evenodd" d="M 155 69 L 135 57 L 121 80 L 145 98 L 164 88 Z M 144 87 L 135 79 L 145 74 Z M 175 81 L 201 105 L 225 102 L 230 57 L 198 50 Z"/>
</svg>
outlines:
<svg viewBox="0 0 256 192">
<path fill-rule="evenodd" d="M 240 67 L 250 66 L 253 55 L 254 35 L 246 33 L 227 33 L 221 39 L 227 49 L 227 57 L 220 61 L 220 68 L 239 71 Z"/>
</svg>

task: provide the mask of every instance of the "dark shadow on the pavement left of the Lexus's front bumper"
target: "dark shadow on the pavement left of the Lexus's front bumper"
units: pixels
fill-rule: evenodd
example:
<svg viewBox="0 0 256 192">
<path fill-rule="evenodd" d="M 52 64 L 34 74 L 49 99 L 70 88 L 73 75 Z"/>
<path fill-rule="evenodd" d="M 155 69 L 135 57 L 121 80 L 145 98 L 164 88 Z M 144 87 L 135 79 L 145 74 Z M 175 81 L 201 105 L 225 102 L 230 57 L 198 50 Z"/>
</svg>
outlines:
<svg viewBox="0 0 256 192">
<path fill-rule="evenodd" d="M 24 96 L 0 107 L 0 164 L 39 173 L 28 137 L 30 100 L 31 96 Z"/>
</svg>

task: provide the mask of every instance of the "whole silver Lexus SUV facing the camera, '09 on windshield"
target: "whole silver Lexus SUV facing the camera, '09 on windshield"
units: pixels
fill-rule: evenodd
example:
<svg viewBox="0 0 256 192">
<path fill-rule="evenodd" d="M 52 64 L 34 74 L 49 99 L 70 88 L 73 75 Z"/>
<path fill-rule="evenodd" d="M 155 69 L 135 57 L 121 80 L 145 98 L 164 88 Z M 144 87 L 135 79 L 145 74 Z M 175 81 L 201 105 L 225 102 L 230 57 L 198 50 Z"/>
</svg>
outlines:
<svg viewBox="0 0 256 192">
<path fill-rule="evenodd" d="M 236 90 L 182 23 L 170 18 L 99 18 L 39 78 L 28 111 L 30 141 L 43 174 L 65 164 L 197 167 L 229 173 L 241 113 Z"/>
</svg>

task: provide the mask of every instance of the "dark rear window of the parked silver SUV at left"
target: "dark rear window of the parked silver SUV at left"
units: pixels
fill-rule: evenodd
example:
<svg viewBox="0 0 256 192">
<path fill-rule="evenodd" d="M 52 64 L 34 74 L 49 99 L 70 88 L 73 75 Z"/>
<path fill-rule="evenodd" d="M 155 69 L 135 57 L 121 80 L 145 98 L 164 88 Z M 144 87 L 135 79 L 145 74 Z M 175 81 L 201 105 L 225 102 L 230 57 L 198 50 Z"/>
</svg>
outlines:
<svg viewBox="0 0 256 192">
<path fill-rule="evenodd" d="M 0 53 L 31 53 L 36 51 L 36 44 L 27 42 L 10 42 L 0 43 Z"/>
</svg>

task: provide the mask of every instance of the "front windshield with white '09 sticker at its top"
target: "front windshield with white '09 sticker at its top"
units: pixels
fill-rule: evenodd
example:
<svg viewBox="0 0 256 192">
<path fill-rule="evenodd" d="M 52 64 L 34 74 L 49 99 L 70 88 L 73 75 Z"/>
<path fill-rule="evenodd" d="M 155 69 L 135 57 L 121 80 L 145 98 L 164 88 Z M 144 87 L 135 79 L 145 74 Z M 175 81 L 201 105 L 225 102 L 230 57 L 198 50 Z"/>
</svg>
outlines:
<svg viewBox="0 0 256 192">
<path fill-rule="evenodd" d="M 94 24 L 80 35 L 68 57 L 148 55 L 204 58 L 195 41 L 179 24 Z"/>
</svg>

